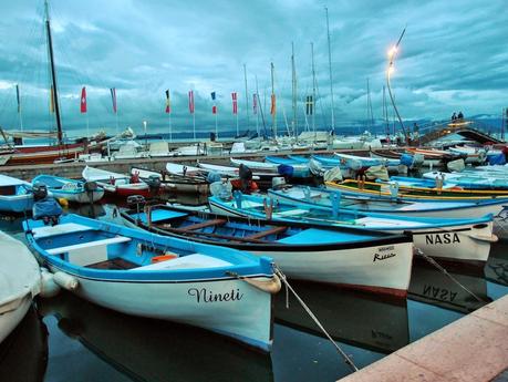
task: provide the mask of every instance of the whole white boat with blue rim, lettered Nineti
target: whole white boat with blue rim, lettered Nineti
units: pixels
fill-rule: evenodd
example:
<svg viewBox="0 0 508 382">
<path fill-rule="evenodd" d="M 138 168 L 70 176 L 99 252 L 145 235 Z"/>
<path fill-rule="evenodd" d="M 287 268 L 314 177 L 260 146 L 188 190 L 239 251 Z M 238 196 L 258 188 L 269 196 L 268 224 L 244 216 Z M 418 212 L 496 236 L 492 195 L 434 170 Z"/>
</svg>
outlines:
<svg viewBox="0 0 508 382">
<path fill-rule="evenodd" d="M 270 258 L 77 215 L 23 228 L 54 282 L 84 299 L 270 350 L 271 292 L 280 289 Z"/>
</svg>

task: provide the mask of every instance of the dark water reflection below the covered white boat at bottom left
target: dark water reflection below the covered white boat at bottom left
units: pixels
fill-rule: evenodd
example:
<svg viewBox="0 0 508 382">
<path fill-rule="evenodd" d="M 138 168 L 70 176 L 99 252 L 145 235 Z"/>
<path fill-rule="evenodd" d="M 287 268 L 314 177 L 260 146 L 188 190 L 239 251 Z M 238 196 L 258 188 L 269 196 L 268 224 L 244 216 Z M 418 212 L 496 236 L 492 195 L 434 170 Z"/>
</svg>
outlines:
<svg viewBox="0 0 508 382">
<path fill-rule="evenodd" d="M 0 381 L 42 381 L 48 364 L 48 330 L 32 306 L 0 344 Z"/>
</svg>

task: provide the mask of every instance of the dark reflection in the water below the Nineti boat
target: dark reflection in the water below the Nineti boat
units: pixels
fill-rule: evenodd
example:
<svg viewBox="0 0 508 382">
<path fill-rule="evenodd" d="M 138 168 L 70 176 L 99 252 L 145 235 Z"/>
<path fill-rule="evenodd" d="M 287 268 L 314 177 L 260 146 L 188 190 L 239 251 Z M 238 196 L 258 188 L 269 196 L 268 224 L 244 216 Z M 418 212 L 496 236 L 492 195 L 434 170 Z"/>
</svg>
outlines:
<svg viewBox="0 0 508 382">
<path fill-rule="evenodd" d="M 46 319 L 54 316 L 68 337 L 132 380 L 273 380 L 269 355 L 198 328 L 122 314 L 68 292 L 41 301 L 41 311 Z M 75 345 L 71 348 L 75 353 Z M 61 369 L 58 378 L 70 381 L 74 372 Z"/>
</svg>

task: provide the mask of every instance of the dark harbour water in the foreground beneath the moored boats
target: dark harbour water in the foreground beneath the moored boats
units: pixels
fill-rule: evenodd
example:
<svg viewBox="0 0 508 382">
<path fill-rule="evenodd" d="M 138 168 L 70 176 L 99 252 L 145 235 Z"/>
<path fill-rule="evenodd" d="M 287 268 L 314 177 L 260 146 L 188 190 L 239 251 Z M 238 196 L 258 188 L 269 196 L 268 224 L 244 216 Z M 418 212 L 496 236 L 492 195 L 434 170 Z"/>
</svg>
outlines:
<svg viewBox="0 0 508 382">
<path fill-rule="evenodd" d="M 108 206 L 75 210 L 111 217 Z M 0 229 L 19 239 L 21 219 Z M 24 239 L 23 239 L 24 240 Z M 493 247 L 480 270 L 448 269 L 455 280 L 417 261 L 408 299 L 386 299 L 292 282 L 336 343 L 363 368 L 508 293 L 508 242 Z M 351 372 L 291 296 L 276 297 L 271 354 L 221 335 L 167 321 L 117 313 L 70 293 L 37 299 L 0 345 L 0 381 L 335 381 Z"/>
</svg>

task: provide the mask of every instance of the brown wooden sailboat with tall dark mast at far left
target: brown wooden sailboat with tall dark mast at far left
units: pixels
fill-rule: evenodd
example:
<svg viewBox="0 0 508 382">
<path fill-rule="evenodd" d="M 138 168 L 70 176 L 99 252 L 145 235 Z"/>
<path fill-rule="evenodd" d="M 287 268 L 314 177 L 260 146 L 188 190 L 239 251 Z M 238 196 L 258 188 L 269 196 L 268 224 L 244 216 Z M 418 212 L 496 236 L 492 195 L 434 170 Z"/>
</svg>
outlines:
<svg viewBox="0 0 508 382">
<path fill-rule="evenodd" d="M 17 132 L 8 133 L 0 128 L 0 134 L 7 143 L 7 147 L 0 149 L 0 165 L 28 165 L 28 164 L 51 164 L 55 161 L 73 159 L 79 154 L 87 148 L 86 142 L 66 143 L 63 138 L 61 110 L 58 95 L 56 84 L 56 69 L 53 54 L 53 40 L 51 35 L 50 14 L 48 9 L 48 1 L 44 1 L 44 29 L 48 42 L 48 56 L 50 63 L 50 96 L 51 96 L 51 111 L 54 113 L 56 132 L 49 133 L 29 133 Z M 18 111 L 20 112 L 19 104 L 19 87 L 17 87 L 18 95 Z M 55 145 L 13 145 L 8 141 L 8 136 L 14 137 L 14 144 L 21 143 L 22 137 L 55 137 Z"/>
</svg>

